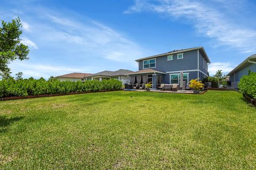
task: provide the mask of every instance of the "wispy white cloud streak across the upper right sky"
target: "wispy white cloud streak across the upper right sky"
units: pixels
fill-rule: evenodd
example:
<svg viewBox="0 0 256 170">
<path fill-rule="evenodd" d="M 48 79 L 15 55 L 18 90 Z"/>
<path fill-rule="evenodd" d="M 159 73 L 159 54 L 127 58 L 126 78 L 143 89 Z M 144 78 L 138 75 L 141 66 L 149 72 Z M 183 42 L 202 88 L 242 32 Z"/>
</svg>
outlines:
<svg viewBox="0 0 256 170">
<path fill-rule="evenodd" d="M 215 3 L 223 2 L 215 1 Z M 156 12 L 164 16 L 171 16 L 171 19 L 186 19 L 189 23 L 194 24 L 198 33 L 215 40 L 215 45 L 239 48 L 244 53 L 256 52 L 256 30 L 250 28 L 250 25 L 246 27 L 233 22 L 223 14 L 223 11 L 204 1 L 136 0 L 135 4 L 124 13 L 141 11 Z"/>
</svg>

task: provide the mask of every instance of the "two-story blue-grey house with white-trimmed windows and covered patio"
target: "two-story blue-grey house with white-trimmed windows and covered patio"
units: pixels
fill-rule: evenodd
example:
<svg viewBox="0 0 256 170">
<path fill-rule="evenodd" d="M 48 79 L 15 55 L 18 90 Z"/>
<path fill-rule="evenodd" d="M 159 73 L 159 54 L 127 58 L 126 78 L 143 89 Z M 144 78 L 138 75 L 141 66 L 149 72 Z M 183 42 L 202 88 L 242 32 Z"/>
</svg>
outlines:
<svg viewBox="0 0 256 170">
<path fill-rule="evenodd" d="M 209 76 L 208 64 L 211 63 L 203 47 L 173 50 L 135 61 L 138 62 L 139 71 L 129 74 L 131 83 L 151 82 L 153 89 L 161 83 L 179 83 L 181 71 L 186 83 L 191 79 L 202 80 Z"/>
</svg>

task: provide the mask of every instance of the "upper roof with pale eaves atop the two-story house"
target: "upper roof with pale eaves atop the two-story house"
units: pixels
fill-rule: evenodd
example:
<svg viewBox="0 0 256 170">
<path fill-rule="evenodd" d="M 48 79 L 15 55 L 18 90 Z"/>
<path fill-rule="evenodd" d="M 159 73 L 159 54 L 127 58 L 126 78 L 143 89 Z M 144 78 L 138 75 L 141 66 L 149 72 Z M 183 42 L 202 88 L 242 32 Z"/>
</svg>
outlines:
<svg viewBox="0 0 256 170">
<path fill-rule="evenodd" d="M 139 59 L 137 59 L 135 61 L 138 62 L 138 61 L 146 60 L 146 59 L 149 59 L 149 58 L 161 57 L 161 56 L 165 56 L 165 55 L 172 55 L 172 54 L 183 53 L 183 52 L 189 52 L 189 51 L 196 50 L 196 49 L 199 49 L 201 51 L 201 53 L 204 54 L 207 63 L 211 63 L 209 57 L 207 56 L 207 54 L 206 54 L 206 52 L 204 50 L 204 47 L 195 47 L 195 48 L 173 50 L 172 52 L 168 52 L 168 53 L 157 54 L 157 55 L 153 55 L 153 56 L 139 58 Z"/>
</svg>

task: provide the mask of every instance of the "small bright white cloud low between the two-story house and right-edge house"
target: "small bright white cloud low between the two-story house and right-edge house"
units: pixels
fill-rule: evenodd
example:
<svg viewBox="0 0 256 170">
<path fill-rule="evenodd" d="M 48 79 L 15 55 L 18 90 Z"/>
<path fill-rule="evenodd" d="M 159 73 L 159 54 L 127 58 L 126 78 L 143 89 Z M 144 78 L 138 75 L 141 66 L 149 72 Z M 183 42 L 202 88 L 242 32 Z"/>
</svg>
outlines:
<svg viewBox="0 0 256 170">
<path fill-rule="evenodd" d="M 231 70 L 233 70 L 234 67 L 231 66 L 229 62 L 226 63 L 211 63 L 209 65 L 208 71 L 210 75 L 214 75 L 218 70 L 222 70 L 223 73 L 227 74 Z"/>
</svg>

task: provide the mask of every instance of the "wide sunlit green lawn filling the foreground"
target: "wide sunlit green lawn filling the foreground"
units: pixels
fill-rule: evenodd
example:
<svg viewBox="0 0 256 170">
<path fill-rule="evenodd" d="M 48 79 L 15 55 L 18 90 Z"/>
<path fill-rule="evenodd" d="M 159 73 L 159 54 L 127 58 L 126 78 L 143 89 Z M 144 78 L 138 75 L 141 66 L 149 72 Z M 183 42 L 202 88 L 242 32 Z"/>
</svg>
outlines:
<svg viewBox="0 0 256 170">
<path fill-rule="evenodd" d="M 0 101 L 0 169 L 255 169 L 256 108 L 235 91 Z"/>
</svg>

